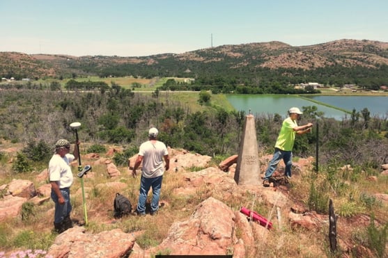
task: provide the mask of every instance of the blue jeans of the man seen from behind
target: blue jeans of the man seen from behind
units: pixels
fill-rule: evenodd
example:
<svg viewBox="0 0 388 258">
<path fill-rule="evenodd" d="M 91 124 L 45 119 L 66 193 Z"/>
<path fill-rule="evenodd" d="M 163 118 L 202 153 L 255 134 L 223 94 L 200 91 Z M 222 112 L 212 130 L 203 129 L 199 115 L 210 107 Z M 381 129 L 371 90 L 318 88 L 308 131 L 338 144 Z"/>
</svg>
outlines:
<svg viewBox="0 0 388 258">
<path fill-rule="evenodd" d="M 160 189 L 162 188 L 163 176 L 146 178 L 141 176 L 140 195 L 137 202 L 137 212 L 140 214 L 146 214 L 146 200 L 148 191 L 153 188 L 153 199 L 151 201 L 151 212 L 155 212 L 159 209 L 159 196 Z"/>
</svg>

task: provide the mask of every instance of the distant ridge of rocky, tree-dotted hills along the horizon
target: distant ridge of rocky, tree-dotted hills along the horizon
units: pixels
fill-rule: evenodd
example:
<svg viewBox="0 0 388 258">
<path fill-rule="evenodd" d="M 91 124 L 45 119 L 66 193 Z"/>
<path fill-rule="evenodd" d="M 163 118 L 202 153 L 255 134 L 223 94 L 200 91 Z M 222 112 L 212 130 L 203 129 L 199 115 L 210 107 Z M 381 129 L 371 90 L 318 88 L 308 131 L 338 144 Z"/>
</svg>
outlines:
<svg viewBox="0 0 388 258">
<path fill-rule="evenodd" d="M 0 52 L 0 75 L 17 79 L 74 75 L 196 76 L 201 73 L 222 76 L 225 72 L 249 74 L 263 69 L 379 69 L 382 65 L 388 65 L 388 42 L 371 40 L 335 40 L 302 47 L 278 41 L 258 42 L 139 57 Z"/>
</svg>

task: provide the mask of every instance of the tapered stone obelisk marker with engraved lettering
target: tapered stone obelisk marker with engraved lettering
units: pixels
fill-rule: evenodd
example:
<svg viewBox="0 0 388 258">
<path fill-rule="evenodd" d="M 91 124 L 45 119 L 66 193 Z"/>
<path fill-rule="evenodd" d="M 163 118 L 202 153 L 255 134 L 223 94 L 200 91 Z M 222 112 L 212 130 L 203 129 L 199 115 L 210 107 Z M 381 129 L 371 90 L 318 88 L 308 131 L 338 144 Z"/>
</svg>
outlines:
<svg viewBox="0 0 388 258">
<path fill-rule="evenodd" d="M 260 184 L 260 161 L 258 160 L 255 118 L 251 114 L 245 116 L 245 126 L 235 169 L 235 182 L 240 185 Z"/>
</svg>

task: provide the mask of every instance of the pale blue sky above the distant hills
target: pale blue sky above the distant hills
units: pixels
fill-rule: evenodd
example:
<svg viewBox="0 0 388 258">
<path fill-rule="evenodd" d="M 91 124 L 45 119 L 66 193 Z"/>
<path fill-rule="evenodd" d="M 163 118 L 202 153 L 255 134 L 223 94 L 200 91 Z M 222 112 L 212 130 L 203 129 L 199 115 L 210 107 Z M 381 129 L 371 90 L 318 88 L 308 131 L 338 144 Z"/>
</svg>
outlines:
<svg viewBox="0 0 388 258">
<path fill-rule="evenodd" d="M 388 42 L 388 0 L 0 0 L 0 51 L 148 56 L 220 45 Z"/>
</svg>

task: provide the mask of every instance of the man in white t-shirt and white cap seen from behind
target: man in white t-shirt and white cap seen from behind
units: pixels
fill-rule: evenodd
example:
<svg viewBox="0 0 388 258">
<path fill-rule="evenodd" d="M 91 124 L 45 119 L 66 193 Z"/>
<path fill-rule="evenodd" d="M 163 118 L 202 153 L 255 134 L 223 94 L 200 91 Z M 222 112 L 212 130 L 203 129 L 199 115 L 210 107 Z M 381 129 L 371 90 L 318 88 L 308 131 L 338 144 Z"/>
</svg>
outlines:
<svg viewBox="0 0 388 258">
<path fill-rule="evenodd" d="M 155 215 L 157 213 L 163 174 L 170 167 L 169 152 L 166 145 L 157 140 L 158 133 L 155 127 L 148 131 L 148 140 L 140 145 L 139 155 L 134 162 L 132 170 L 132 175 L 136 177 L 136 170 L 139 168 L 141 161 L 143 161 L 139 201 L 137 202 L 137 214 L 139 216 L 146 215 L 146 200 L 151 187 L 153 188 L 153 198 L 150 214 Z"/>
</svg>

